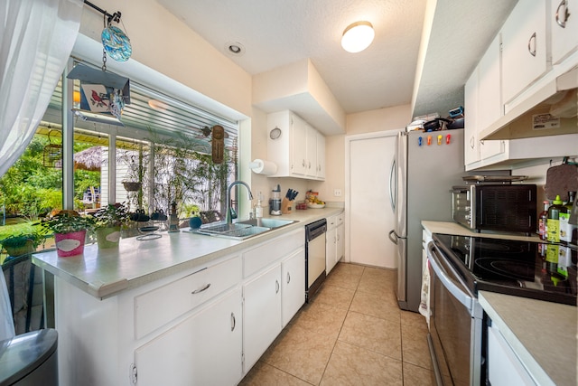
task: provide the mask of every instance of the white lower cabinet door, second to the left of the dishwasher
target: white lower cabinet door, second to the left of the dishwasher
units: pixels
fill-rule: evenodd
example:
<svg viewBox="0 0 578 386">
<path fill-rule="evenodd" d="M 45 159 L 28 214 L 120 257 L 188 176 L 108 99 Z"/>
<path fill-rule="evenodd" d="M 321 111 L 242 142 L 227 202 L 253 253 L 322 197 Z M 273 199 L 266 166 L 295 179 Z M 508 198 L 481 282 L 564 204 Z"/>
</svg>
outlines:
<svg viewBox="0 0 578 386">
<path fill-rule="evenodd" d="M 243 286 L 243 298 L 244 371 L 247 372 L 281 332 L 281 265 L 248 281 Z"/>
</svg>

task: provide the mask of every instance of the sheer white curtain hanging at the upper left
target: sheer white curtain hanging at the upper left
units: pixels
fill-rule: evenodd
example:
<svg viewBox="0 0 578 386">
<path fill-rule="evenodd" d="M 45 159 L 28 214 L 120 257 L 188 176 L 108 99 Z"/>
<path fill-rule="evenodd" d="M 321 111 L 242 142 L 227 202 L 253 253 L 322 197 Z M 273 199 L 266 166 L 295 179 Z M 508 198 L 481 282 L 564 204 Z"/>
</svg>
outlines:
<svg viewBox="0 0 578 386">
<path fill-rule="evenodd" d="M 0 176 L 23 154 L 79 33 L 82 0 L 0 1 Z"/>
</svg>

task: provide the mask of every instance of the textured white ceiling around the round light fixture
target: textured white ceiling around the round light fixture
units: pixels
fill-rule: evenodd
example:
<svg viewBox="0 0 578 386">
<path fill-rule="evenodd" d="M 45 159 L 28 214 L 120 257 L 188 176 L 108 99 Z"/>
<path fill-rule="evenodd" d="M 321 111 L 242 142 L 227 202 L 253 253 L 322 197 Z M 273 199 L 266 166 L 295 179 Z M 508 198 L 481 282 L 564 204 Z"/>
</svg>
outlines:
<svg viewBox="0 0 578 386">
<path fill-rule="evenodd" d="M 414 116 L 463 103 L 465 80 L 517 3 L 429 0 L 435 12 L 422 42 L 428 0 L 157 1 L 220 52 L 240 42 L 244 54 L 229 57 L 252 75 L 309 58 L 347 114 L 412 103 Z M 341 34 L 359 20 L 376 38 L 364 52 L 345 52 Z"/>
</svg>

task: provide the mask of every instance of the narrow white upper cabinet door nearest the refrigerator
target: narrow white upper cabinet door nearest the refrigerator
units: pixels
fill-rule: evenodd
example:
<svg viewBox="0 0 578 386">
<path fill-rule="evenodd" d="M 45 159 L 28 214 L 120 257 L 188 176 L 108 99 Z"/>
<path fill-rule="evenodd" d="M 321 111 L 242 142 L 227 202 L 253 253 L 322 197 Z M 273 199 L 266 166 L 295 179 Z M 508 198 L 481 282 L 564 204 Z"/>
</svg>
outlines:
<svg viewBox="0 0 578 386">
<path fill-rule="evenodd" d="M 465 121 L 463 128 L 463 159 L 465 165 L 480 161 L 478 141 L 478 68 L 471 73 L 464 87 Z"/>
</svg>

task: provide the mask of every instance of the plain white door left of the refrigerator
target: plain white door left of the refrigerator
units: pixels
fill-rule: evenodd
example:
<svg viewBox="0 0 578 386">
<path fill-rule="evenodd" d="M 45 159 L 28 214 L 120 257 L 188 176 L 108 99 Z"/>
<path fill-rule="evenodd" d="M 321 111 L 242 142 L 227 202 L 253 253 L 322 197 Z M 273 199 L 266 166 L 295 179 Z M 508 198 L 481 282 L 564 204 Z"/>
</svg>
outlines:
<svg viewBox="0 0 578 386">
<path fill-rule="evenodd" d="M 395 228 L 389 203 L 389 174 L 398 130 L 346 137 L 346 260 L 396 268 L 396 246 L 387 233 Z M 393 182 L 392 182 L 393 184 Z"/>
</svg>

